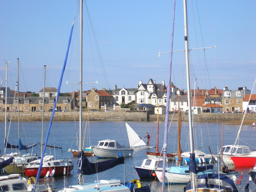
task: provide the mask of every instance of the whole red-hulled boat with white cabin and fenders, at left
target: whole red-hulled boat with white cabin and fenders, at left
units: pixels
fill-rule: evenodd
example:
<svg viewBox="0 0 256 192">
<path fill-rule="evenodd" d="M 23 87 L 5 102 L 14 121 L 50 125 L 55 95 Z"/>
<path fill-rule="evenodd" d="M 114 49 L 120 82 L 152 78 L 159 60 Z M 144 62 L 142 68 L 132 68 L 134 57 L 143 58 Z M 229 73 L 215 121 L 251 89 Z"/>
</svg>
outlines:
<svg viewBox="0 0 256 192">
<path fill-rule="evenodd" d="M 24 172 L 28 177 L 36 177 L 40 159 L 30 162 L 24 167 Z M 44 156 L 42 171 L 40 177 L 59 176 L 70 173 L 74 168 L 71 160 L 64 162 L 64 160 L 57 160 L 54 156 Z"/>
</svg>

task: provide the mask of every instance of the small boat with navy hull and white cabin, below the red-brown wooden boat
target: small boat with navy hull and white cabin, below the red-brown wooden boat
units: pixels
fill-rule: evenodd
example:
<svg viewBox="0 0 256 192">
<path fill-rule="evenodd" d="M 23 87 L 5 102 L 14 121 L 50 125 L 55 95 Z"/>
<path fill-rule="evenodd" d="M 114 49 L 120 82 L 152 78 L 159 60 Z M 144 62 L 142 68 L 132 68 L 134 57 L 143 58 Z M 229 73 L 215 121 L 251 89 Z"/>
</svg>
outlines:
<svg viewBox="0 0 256 192">
<path fill-rule="evenodd" d="M 138 176 L 143 178 L 156 178 L 155 170 L 163 170 L 163 159 L 161 158 L 152 158 L 152 159 L 144 159 L 141 166 L 134 167 L 136 169 L 136 173 Z"/>
</svg>

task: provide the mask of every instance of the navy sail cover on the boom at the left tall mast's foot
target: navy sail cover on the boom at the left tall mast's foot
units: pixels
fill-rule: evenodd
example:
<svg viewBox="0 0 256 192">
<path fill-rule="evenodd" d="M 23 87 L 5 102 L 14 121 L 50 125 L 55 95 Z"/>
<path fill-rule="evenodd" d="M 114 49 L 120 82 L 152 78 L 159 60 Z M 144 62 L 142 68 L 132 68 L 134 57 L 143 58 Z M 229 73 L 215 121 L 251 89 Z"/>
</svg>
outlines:
<svg viewBox="0 0 256 192">
<path fill-rule="evenodd" d="M 106 171 L 119 164 L 124 164 L 124 157 L 118 157 L 102 162 L 90 163 L 87 157 L 84 155 L 84 151 L 81 150 L 78 153 L 78 173 L 83 175 L 91 175 L 99 172 Z"/>
</svg>

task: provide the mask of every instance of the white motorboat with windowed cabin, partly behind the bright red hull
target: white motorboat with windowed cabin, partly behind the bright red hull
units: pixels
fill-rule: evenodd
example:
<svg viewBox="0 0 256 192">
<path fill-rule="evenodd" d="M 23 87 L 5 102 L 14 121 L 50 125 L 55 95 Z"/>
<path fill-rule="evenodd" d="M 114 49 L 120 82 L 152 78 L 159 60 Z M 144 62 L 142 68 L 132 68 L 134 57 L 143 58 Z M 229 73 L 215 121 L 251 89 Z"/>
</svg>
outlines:
<svg viewBox="0 0 256 192">
<path fill-rule="evenodd" d="M 226 165 L 234 165 L 233 160 L 230 158 L 230 156 L 243 156 L 245 154 L 248 154 L 250 152 L 250 148 L 248 146 L 244 145 L 225 145 L 222 147 L 222 149 L 219 152 L 219 157 L 223 158 L 223 162 Z"/>
</svg>

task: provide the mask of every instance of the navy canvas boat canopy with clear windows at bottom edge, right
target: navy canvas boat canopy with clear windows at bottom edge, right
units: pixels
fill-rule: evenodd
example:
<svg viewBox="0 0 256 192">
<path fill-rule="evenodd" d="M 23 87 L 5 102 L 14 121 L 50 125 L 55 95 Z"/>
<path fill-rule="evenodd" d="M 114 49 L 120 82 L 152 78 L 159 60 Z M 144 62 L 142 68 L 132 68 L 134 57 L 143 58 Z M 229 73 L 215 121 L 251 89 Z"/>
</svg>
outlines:
<svg viewBox="0 0 256 192">
<path fill-rule="evenodd" d="M 222 182 L 220 182 L 219 180 L 222 180 Z M 222 186 L 219 186 L 220 183 L 222 183 Z M 197 188 L 220 188 L 227 191 L 238 192 L 234 182 L 230 178 L 222 174 L 209 173 L 198 175 L 197 185 Z M 186 185 L 186 190 L 191 190 L 191 188 L 191 181 L 189 181 Z"/>
</svg>

